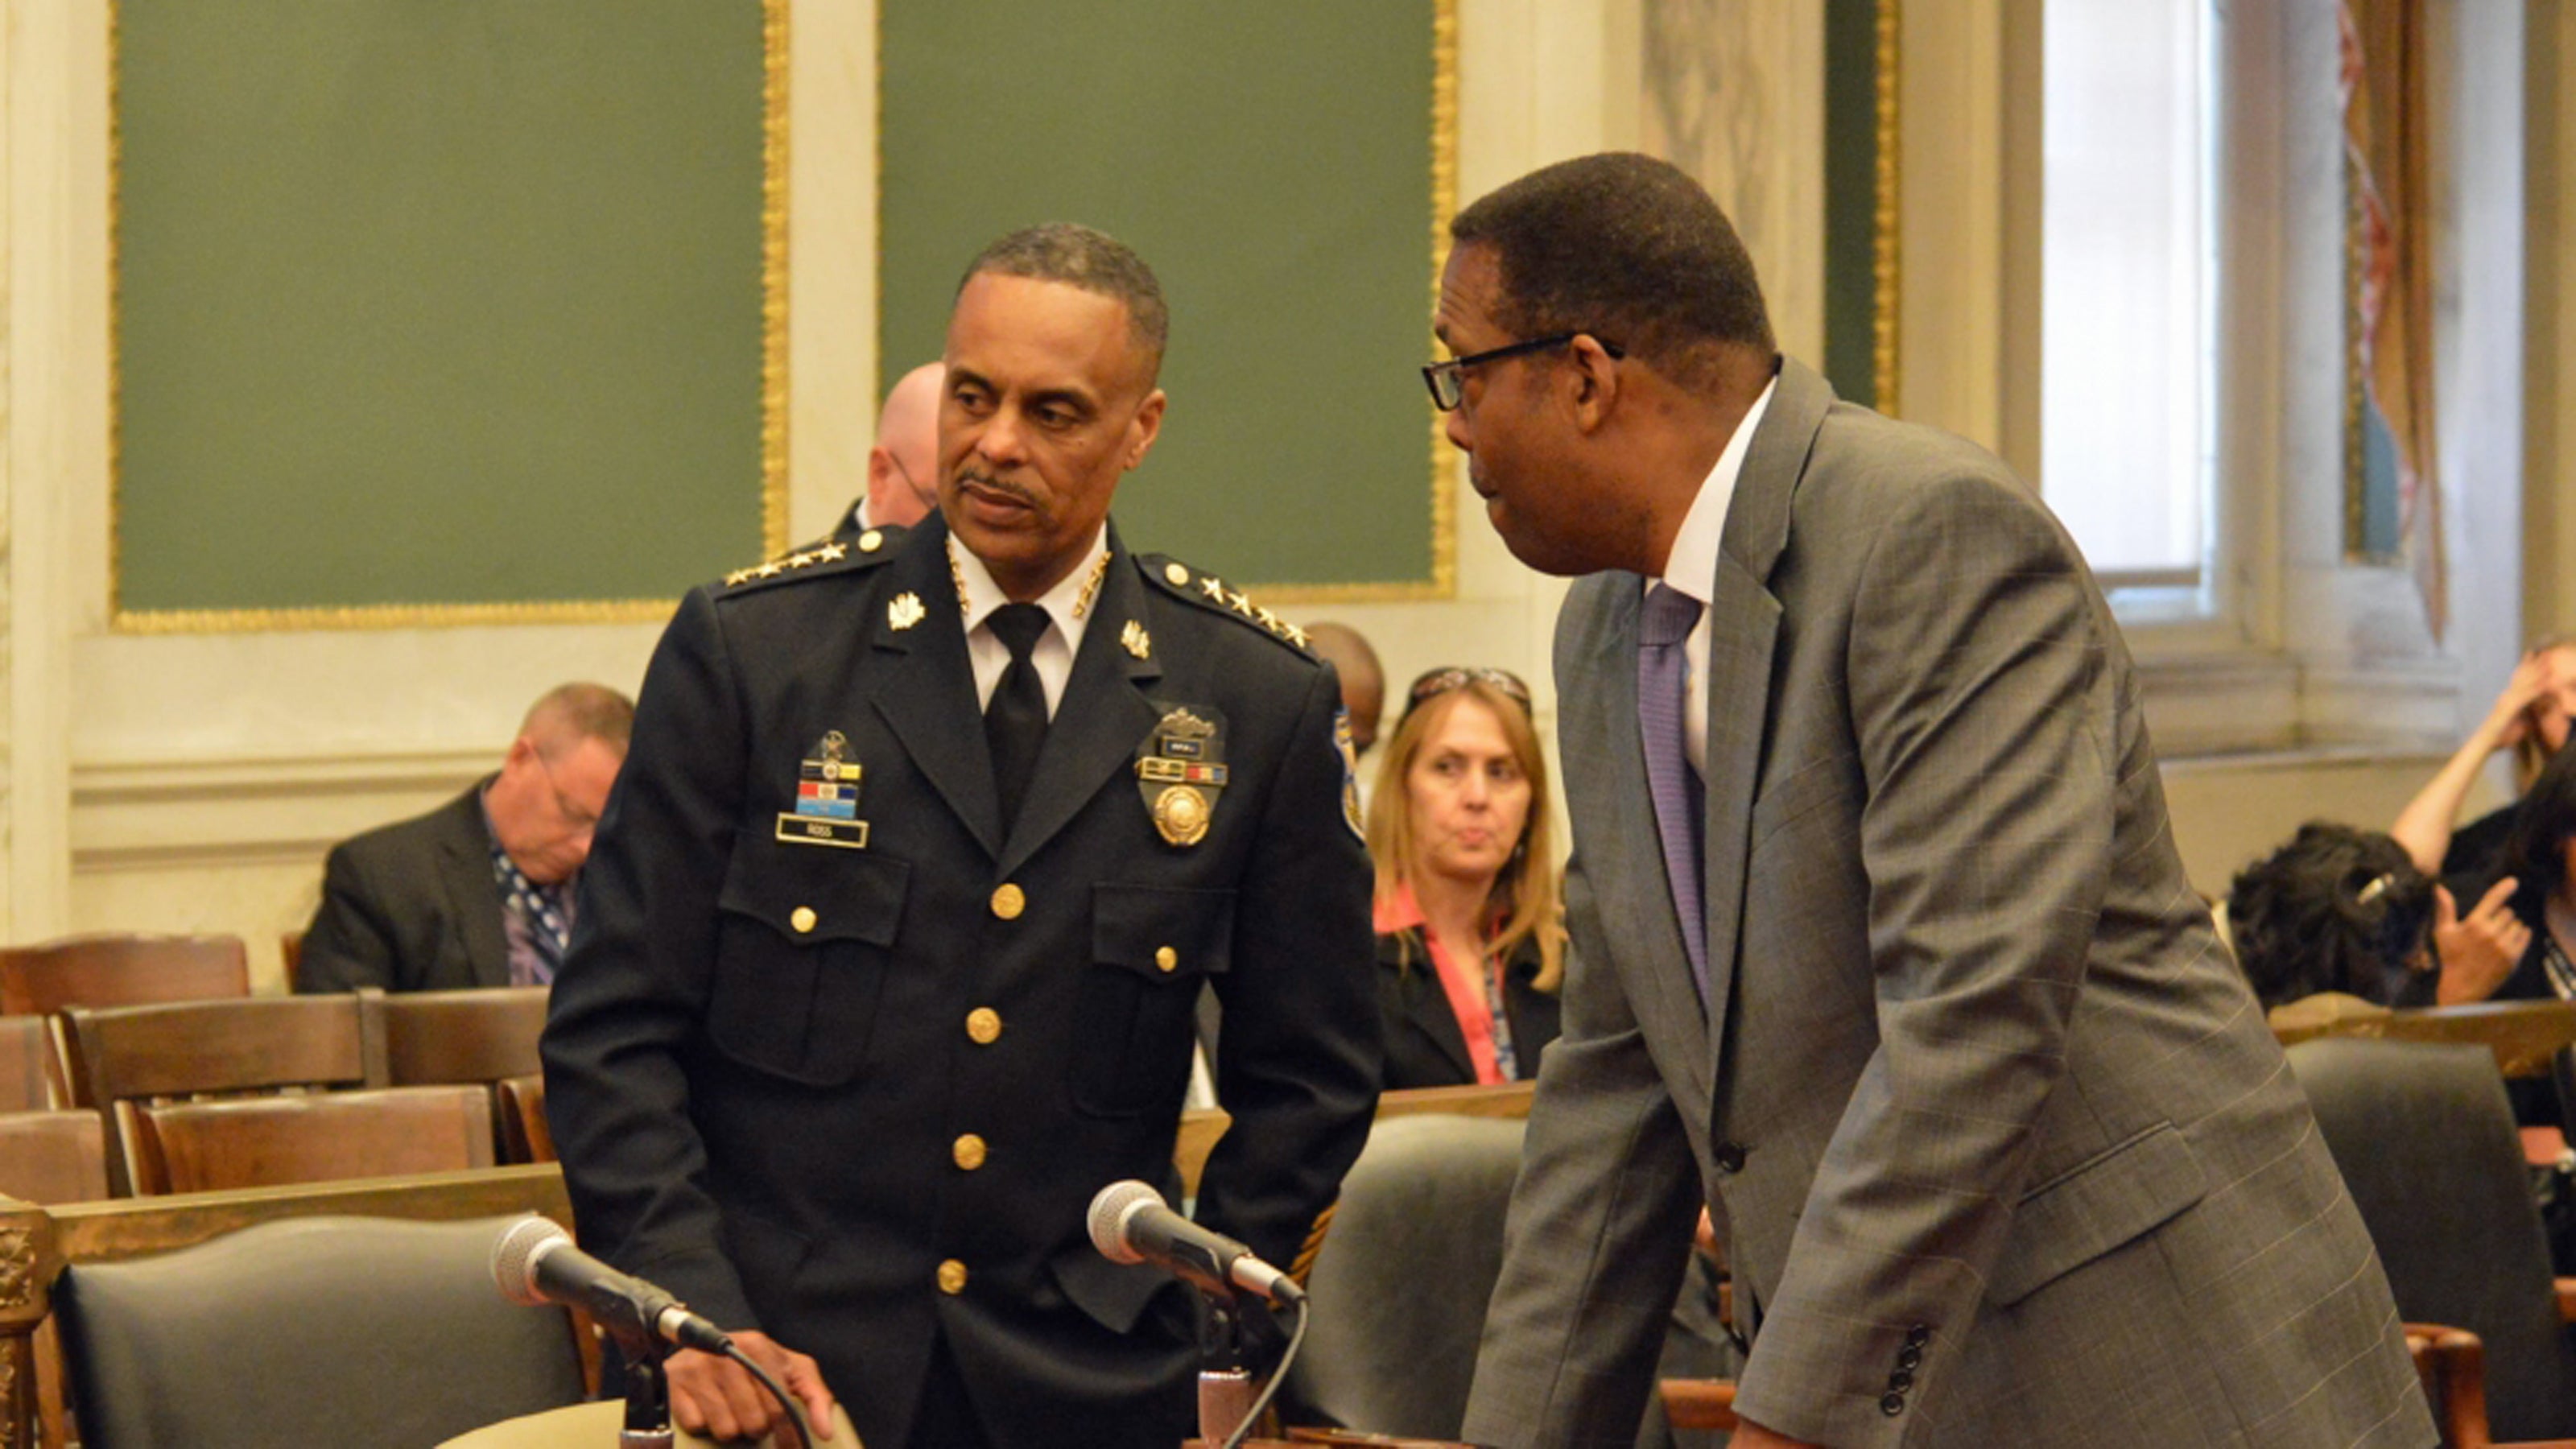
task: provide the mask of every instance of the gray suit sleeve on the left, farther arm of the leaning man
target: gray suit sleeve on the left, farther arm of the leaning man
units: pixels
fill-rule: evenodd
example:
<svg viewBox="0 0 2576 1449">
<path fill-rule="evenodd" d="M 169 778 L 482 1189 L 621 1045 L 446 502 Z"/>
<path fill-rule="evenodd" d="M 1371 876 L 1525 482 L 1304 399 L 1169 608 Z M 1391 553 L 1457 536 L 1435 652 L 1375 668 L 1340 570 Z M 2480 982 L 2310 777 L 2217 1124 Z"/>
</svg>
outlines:
<svg viewBox="0 0 2576 1449">
<path fill-rule="evenodd" d="M 1566 928 L 1566 1029 L 1538 1067 L 1466 1439 L 1625 1449 L 1703 1194 L 1579 859 Z"/>
</svg>

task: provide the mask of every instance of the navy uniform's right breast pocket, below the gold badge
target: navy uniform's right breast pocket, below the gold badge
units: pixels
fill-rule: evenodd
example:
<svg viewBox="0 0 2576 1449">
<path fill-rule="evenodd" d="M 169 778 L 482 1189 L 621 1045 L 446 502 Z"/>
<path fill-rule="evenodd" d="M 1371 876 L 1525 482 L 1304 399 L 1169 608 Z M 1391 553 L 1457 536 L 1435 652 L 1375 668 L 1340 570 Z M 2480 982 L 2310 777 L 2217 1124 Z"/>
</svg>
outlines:
<svg viewBox="0 0 2576 1449">
<path fill-rule="evenodd" d="M 1092 887 L 1092 962 L 1074 1006 L 1074 1106 L 1136 1116 L 1190 1080 L 1198 987 L 1226 969 L 1231 890 Z"/>
</svg>

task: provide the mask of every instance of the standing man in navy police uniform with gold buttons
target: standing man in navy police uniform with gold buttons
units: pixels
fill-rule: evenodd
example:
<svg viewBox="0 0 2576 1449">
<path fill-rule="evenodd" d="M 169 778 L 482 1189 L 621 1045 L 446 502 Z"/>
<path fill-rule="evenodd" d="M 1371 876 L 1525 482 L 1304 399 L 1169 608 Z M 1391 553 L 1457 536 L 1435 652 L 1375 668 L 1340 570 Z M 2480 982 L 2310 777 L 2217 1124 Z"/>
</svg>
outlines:
<svg viewBox="0 0 2576 1449">
<path fill-rule="evenodd" d="M 1340 688 L 1108 521 L 1164 330 L 1154 273 L 1087 227 L 974 260 L 940 511 L 680 603 L 554 985 L 582 1243 L 809 1408 L 840 1395 L 868 1449 L 1190 1431 L 1190 1289 L 1103 1258 L 1084 1214 L 1172 1178 L 1200 985 L 1234 1114 L 1203 1222 L 1296 1266 L 1368 1137 Z M 770 1421 L 719 1359 L 670 1385 L 716 1439 Z"/>
</svg>

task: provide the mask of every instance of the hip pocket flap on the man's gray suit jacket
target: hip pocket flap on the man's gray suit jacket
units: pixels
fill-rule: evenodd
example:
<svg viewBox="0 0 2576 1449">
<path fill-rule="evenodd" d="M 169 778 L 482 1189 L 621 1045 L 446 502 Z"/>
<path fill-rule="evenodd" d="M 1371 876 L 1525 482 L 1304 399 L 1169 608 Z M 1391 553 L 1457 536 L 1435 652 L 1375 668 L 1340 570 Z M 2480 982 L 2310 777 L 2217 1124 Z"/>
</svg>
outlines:
<svg viewBox="0 0 2576 1449">
<path fill-rule="evenodd" d="M 2012 1212 L 1986 1299 L 2012 1307 L 2208 1196 L 2208 1171 L 2172 1122 L 2040 1183 Z"/>
</svg>

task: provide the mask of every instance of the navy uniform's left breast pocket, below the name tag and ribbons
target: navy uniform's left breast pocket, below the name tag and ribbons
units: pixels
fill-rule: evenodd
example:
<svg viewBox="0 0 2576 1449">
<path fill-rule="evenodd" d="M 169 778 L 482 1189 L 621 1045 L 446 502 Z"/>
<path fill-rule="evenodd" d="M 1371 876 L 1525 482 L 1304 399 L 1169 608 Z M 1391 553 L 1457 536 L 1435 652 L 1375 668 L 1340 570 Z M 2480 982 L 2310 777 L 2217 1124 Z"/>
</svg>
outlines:
<svg viewBox="0 0 2576 1449">
<path fill-rule="evenodd" d="M 868 1065 L 912 866 L 868 851 L 744 841 L 716 897 L 706 1031 L 765 1073 L 842 1085 Z"/>
</svg>

